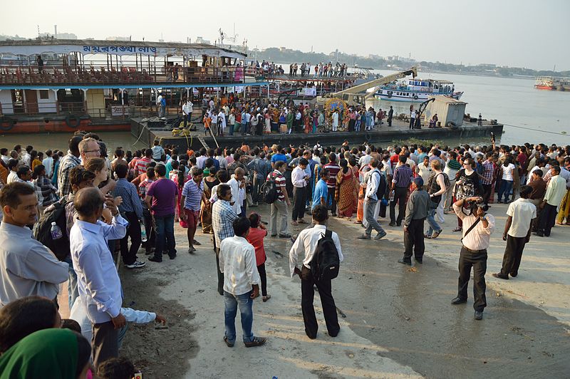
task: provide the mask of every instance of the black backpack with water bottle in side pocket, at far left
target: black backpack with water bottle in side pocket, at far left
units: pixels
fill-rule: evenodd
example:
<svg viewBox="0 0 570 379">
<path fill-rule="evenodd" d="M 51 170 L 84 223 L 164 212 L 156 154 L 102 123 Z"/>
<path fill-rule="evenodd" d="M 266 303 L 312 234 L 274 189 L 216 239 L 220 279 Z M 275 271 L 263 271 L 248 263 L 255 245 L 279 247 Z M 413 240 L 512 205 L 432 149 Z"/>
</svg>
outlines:
<svg viewBox="0 0 570 379">
<path fill-rule="evenodd" d="M 53 203 L 50 207 L 46 208 L 42 217 L 33 227 L 33 238 L 50 249 L 53 254 L 56 254 L 57 259 L 60 261 L 63 261 L 63 259 L 66 259 L 66 257 L 71 254 L 69 236 L 67 235 L 67 203 L 68 202 L 63 200 Z M 56 225 L 60 227 L 62 232 L 62 237 L 57 241 L 53 241 L 51 238 L 52 222 L 56 222 Z"/>
</svg>

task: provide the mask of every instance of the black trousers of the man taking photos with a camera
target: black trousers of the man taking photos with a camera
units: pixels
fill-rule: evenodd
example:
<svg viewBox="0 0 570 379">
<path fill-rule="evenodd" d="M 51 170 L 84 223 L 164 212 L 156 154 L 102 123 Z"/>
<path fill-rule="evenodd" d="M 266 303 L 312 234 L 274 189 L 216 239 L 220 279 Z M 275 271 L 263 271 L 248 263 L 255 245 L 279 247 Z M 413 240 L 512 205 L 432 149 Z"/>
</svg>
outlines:
<svg viewBox="0 0 570 379">
<path fill-rule="evenodd" d="M 487 272 L 487 249 L 470 250 L 462 246 L 459 256 L 459 283 L 457 297 L 467 299 L 467 286 L 471 279 L 471 268 L 473 268 L 473 308 L 475 311 L 483 311 L 487 306 L 485 297 L 485 272 Z"/>
</svg>

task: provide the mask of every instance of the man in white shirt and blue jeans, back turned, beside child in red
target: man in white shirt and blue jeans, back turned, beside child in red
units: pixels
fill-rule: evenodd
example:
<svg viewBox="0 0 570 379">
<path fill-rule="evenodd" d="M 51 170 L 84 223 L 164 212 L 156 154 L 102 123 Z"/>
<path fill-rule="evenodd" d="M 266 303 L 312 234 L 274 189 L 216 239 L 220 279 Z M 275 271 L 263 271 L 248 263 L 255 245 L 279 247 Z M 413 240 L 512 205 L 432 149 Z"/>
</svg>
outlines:
<svg viewBox="0 0 570 379">
<path fill-rule="evenodd" d="M 237 307 L 242 315 L 242 332 L 246 348 L 261 346 L 266 338 L 254 337 L 253 302 L 259 296 L 259 272 L 255 260 L 254 246 L 247 242 L 249 219 L 239 217 L 233 222 L 234 237 L 226 238 L 220 244 L 219 271 L 224 273 L 224 303 L 226 333 L 224 342 L 229 348 L 236 341 Z"/>
</svg>

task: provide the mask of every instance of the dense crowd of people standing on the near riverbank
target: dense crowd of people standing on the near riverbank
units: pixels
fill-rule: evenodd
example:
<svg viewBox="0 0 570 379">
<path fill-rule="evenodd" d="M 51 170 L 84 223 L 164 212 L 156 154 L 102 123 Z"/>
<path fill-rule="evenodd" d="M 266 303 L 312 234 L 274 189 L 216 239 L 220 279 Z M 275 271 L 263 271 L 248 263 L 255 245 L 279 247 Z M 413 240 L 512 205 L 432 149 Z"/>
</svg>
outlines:
<svg viewBox="0 0 570 379">
<path fill-rule="evenodd" d="M 175 223 L 187 229 L 188 254 L 200 244 L 197 232 L 212 234 L 228 347 L 236 341 L 238 308 L 244 346 L 266 342 L 252 331 L 254 299 L 271 298 L 265 238 L 294 242 L 291 277 L 301 278 L 305 331 L 316 338 L 314 286 L 329 336 L 340 331 L 331 278 L 316 276 L 311 267 L 327 251 L 343 260 L 338 234 L 327 227 L 329 215 L 361 224 L 363 240 L 378 241 L 385 227 L 402 227 L 399 262 L 412 265 L 412 257 L 423 263 L 425 240 L 444 232 L 444 214 L 455 214 L 452 232 L 463 238 L 452 303 L 467 301 L 473 269 L 477 320 L 487 305 L 484 274 L 495 229 L 489 207 L 509 204 L 502 269 L 493 274 L 499 279 L 518 275 L 533 231 L 550 237 L 556 224 L 570 224 L 570 146 L 242 142 L 238 148 L 180 150 L 155 141 L 135 152 L 118 147 L 108 157 L 98 135 L 78 132 L 67 152 L 16 145 L 0 153 L 0 369 L 25 377 L 38 367 L 52 374 L 46 378 L 133 372 L 132 363 L 118 358 L 127 323 L 166 320 L 123 306 L 113 254 L 133 270 L 146 265 L 138 258 L 141 247 L 153 264 L 164 256 L 176 259 Z M 267 222 L 252 212 L 264 203 L 270 204 Z M 383 218 L 388 226 L 380 225 Z M 306 228 L 293 235 L 291 225 Z M 65 282 L 71 316 L 62 321 L 57 304 Z"/>
</svg>

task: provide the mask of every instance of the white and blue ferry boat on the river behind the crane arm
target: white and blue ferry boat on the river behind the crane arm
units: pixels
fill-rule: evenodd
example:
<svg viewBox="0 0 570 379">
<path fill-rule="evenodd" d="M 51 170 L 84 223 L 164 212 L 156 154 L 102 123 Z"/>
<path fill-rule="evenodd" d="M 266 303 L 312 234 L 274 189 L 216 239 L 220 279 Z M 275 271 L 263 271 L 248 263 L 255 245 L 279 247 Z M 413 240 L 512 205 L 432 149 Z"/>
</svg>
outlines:
<svg viewBox="0 0 570 379">
<path fill-rule="evenodd" d="M 455 92 L 455 85 L 450 81 L 415 78 L 382 85 L 374 94 L 376 98 L 382 100 L 415 103 L 423 103 L 432 95 L 447 95 L 459 100 L 463 93 Z"/>
</svg>

